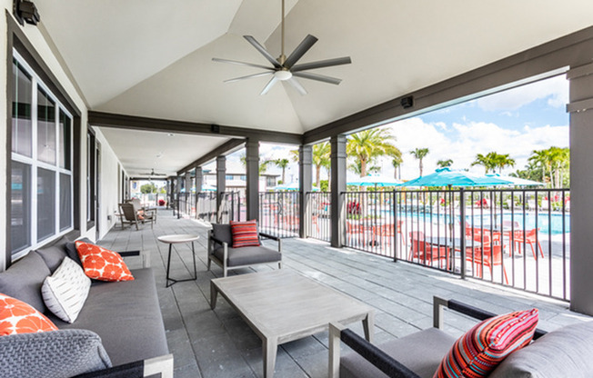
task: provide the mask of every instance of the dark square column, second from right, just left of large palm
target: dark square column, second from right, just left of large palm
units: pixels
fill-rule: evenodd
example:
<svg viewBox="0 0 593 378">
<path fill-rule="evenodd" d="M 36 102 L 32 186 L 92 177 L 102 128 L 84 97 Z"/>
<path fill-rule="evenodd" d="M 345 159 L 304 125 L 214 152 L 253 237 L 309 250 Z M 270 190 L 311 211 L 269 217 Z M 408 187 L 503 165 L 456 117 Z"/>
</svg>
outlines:
<svg viewBox="0 0 593 378">
<path fill-rule="evenodd" d="M 332 136 L 331 145 L 331 245 L 340 248 L 345 240 L 344 197 L 346 192 L 346 135 Z"/>
</svg>

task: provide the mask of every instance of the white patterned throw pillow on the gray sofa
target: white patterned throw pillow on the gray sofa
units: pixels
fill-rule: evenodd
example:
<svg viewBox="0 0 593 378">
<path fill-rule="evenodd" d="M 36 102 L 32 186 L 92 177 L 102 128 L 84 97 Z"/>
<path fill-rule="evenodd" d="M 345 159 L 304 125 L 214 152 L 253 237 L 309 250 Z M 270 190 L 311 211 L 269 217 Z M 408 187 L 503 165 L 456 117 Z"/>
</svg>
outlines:
<svg viewBox="0 0 593 378">
<path fill-rule="evenodd" d="M 54 274 L 45 278 L 41 293 L 45 305 L 55 316 L 67 323 L 74 323 L 85 304 L 90 287 L 91 279 L 83 268 L 65 257 Z"/>
</svg>

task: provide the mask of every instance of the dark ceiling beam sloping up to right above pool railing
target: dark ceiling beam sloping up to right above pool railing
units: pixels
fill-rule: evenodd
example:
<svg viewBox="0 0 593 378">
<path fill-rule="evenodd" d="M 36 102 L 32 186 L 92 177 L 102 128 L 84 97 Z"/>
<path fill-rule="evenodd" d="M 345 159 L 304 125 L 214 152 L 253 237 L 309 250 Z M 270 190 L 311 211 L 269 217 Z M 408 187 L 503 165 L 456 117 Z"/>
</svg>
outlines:
<svg viewBox="0 0 593 378">
<path fill-rule="evenodd" d="M 592 49 L 593 27 L 588 27 L 406 94 L 414 97 L 412 107 L 404 108 L 401 105 L 402 97 L 397 97 L 309 130 L 303 134 L 303 144 L 318 143 L 332 135 L 354 133 L 459 104 L 476 98 L 477 94 L 491 94 L 508 89 L 509 85 L 523 85 L 530 80 L 536 81 L 547 75 L 555 75 L 563 69 L 566 71 L 568 66 L 589 63 Z"/>
</svg>

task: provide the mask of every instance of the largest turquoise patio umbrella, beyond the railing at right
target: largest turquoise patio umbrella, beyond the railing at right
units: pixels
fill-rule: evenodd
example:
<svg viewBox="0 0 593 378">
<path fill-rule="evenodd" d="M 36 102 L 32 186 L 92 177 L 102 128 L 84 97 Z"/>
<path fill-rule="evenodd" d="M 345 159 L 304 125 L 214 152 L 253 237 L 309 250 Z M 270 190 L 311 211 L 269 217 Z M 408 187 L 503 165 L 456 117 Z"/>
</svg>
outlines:
<svg viewBox="0 0 593 378">
<path fill-rule="evenodd" d="M 407 181 L 402 186 L 492 186 L 508 185 L 508 180 L 486 175 L 470 174 L 466 171 L 454 171 L 449 167 L 438 168 L 434 174 L 420 176 Z"/>
</svg>

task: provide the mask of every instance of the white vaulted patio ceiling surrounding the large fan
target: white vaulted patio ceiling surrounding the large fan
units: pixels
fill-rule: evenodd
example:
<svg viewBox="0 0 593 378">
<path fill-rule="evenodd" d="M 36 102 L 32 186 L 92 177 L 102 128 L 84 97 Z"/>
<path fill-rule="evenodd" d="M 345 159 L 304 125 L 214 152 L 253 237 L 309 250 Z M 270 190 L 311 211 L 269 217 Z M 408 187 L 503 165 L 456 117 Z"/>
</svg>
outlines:
<svg viewBox="0 0 593 378">
<path fill-rule="evenodd" d="M 311 34 L 299 63 L 353 63 L 260 96 L 266 77 L 223 83 L 256 68 L 211 59 L 268 65 L 242 35 L 279 55 L 280 0 L 35 4 L 92 110 L 298 134 L 593 25 L 590 0 L 286 0 L 286 55 Z"/>
</svg>

